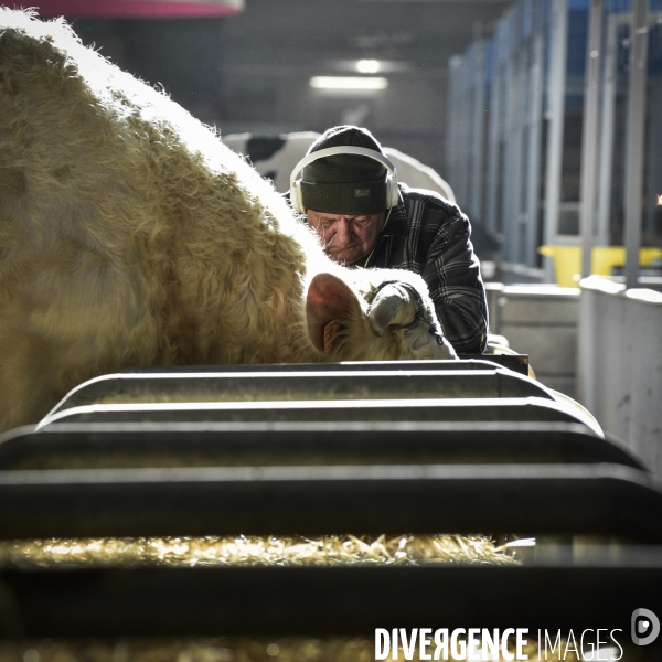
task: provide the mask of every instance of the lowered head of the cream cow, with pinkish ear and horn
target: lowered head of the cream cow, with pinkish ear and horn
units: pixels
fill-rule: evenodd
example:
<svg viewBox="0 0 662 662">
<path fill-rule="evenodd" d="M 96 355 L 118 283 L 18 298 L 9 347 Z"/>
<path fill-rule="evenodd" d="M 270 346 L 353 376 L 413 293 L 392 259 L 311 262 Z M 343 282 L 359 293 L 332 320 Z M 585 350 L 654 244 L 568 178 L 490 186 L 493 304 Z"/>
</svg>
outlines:
<svg viewBox="0 0 662 662">
<path fill-rule="evenodd" d="M 310 339 L 332 361 L 457 359 L 420 289 L 387 280 L 360 299 L 338 276 L 318 274 L 306 301 Z"/>
</svg>

